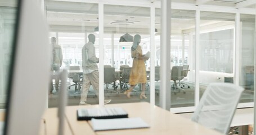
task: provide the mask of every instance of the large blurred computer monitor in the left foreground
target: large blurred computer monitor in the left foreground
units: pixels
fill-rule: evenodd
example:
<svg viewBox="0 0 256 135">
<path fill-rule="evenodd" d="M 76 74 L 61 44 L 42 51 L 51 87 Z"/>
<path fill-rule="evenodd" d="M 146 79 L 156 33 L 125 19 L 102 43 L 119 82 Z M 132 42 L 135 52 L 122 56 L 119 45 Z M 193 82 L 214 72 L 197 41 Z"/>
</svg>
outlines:
<svg viewBox="0 0 256 135">
<path fill-rule="evenodd" d="M 5 134 L 38 134 L 50 88 L 51 46 L 38 1 L 20 0 L 14 38 Z"/>
</svg>

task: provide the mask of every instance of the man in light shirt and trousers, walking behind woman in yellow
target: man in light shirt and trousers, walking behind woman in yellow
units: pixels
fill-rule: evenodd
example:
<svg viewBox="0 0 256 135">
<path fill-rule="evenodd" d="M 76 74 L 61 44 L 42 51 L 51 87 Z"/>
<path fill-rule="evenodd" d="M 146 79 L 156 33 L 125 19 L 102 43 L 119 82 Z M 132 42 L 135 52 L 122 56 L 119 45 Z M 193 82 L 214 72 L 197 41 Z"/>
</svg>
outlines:
<svg viewBox="0 0 256 135">
<path fill-rule="evenodd" d="M 89 88 L 93 87 L 98 97 L 98 58 L 95 55 L 95 35 L 88 35 L 89 42 L 82 48 L 82 66 L 83 66 L 83 89 L 80 97 L 80 105 L 87 104 L 87 95 Z M 104 100 L 104 104 L 108 104 L 111 100 Z"/>
</svg>

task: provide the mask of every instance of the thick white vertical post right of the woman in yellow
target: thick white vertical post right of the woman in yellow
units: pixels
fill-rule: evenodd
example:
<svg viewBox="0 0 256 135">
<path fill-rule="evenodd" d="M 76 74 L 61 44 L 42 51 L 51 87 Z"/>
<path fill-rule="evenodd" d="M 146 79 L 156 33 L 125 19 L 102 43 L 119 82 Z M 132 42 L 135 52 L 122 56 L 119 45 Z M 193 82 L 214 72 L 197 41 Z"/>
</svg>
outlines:
<svg viewBox="0 0 256 135">
<path fill-rule="evenodd" d="M 160 37 L 160 96 L 159 104 L 165 110 L 170 109 L 170 0 L 161 1 L 161 37 Z M 163 29 L 164 28 L 164 29 Z M 153 60 L 154 61 L 154 60 Z M 155 80 L 155 79 L 154 79 Z"/>
</svg>

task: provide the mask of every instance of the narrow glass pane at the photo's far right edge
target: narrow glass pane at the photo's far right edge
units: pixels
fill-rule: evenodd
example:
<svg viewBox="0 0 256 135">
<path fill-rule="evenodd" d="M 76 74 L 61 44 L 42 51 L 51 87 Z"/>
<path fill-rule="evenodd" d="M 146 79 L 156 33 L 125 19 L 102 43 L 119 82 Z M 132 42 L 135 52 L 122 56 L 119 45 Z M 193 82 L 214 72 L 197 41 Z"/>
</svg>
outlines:
<svg viewBox="0 0 256 135">
<path fill-rule="evenodd" d="M 254 95 L 254 31 L 255 15 L 240 15 L 241 48 L 239 63 L 239 85 L 245 88 L 240 102 L 253 102 Z"/>
</svg>

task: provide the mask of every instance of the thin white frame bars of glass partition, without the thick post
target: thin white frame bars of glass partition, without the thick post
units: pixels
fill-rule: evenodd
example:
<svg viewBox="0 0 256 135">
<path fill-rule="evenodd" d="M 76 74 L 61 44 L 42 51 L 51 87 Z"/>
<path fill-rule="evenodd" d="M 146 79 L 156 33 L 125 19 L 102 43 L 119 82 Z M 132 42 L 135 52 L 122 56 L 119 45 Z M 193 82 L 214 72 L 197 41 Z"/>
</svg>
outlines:
<svg viewBox="0 0 256 135">
<path fill-rule="evenodd" d="M 55 0 L 55 1 L 60 1 L 60 0 Z M 100 39 L 100 105 L 103 105 L 104 102 L 104 73 L 103 73 L 103 53 L 104 53 L 104 45 L 103 45 L 103 39 L 104 39 L 104 4 L 108 5 L 119 5 L 119 6 L 135 6 L 135 7 L 149 7 L 150 8 L 150 39 L 151 39 L 151 54 L 155 53 L 155 43 L 154 43 L 154 29 L 155 29 L 155 8 L 161 8 L 161 3 L 160 1 L 146 1 L 146 0 L 141 0 L 141 1 L 131 1 L 131 0 L 62 0 L 62 1 L 70 1 L 70 2 L 86 2 L 86 3 L 98 3 L 98 15 L 99 15 L 99 39 Z M 200 32 L 199 32 L 199 27 L 200 27 L 200 11 L 210 11 L 210 12 L 224 12 L 224 13 L 236 13 L 236 31 L 235 31 L 235 37 L 238 38 L 235 40 L 235 49 L 234 52 L 237 54 L 240 46 L 240 22 L 237 21 L 240 18 L 240 14 L 249 14 L 249 15 L 256 15 L 255 9 L 254 8 L 247 8 L 246 6 L 256 4 L 256 1 L 249 1 L 248 2 L 240 2 L 240 4 L 237 4 L 236 7 L 228 7 L 228 6 L 214 6 L 214 5 L 206 5 L 206 1 L 208 0 L 202 0 L 201 2 L 198 3 L 178 3 L 178 2 L 172 2 L 171 4 L 171 9 L 176 9 L 176 10 L 192 10 L 196 12 L 196 48 L 199 48 L 199 41 L 200 41 Z M 167 21 L 167 20 L 165 20 Z M 255 51 L 254 51 L 255 53 Z M 150 64 L 155 66 L 155 56 L 151 55 L 150 56 Z M 161 56 L 161 61 L 167 61 L 169 58 L 167 56 Z M 234 60 L 235 66 L 239 65 L 239 60 L 237 60 L 237 56 L 235 57 Z M 255 62 L 256 63 L 256 62 Z M 199 55 L 196 55 L 196 77 L 195 77 L 195 106 L 198 105 L 199 103 Z M 150 80 L 154 80 L 155 78 L 155 73 L 154 73 L 154 67 L 151 66 L 151 76 Z M 163 65 L 161 65 L 163 66 Z M 256 66 L 256 65 L 255 65 Z M 165 72 L 167 73 L 167 68 L 165 68 Z M 234 70 L 235 73 L 235 84 L 239 84 L 239 80 L 237 80 L 239 73 L 237 72 L 237 69 Z M 167 88 L 166 85 L 163 88 Z M 256 88 L 255 83 L 254 83 L 254 88 Z M 162 90 L 161 90 L 162 91 Z M 150 103 L 152 105 L 155 105 L 155 82 L 152 81 L 150 83 Z M 164 97 L 163 95 L 160 97 L 165 101 L 165 104 L 169 102 L 169 99 Z M 169 104 L 171 104 L 169 102 Z M 248 103 L 241 103 L 238 105 L 239 108 L 242 107 L 253 107 L 253 102 L 248 102 Z M 176 113 L 181 113 L 181 112 L 188 112 L 188 111 L 194 111 L 195 106 L 190 106 L 190 107 L 180 107 L 180 108 L 175 108 L 171 109 L 175 111 Z"/>
</svg>

